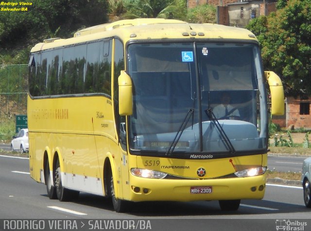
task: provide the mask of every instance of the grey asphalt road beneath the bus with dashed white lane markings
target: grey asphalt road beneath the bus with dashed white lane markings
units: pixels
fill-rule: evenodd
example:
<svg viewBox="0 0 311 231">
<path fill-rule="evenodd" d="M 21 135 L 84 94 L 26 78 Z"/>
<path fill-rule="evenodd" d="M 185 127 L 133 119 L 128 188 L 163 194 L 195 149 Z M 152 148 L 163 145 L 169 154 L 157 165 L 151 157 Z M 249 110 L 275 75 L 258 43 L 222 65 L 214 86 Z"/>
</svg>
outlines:
<svg viewBox="0 0 311 231">
<path fill-rule="evenodd" d="M 136 203 L 129 214 L 118 214 L 113 211 L 111 202 L 103 197 L 82 193 L 72 202 L 49 199 L 45 185 L 30 178 L 28 165 L 27 158 L 0 155 L 0 230 L 5 224 L 14 225 L 18 219 L 48 219 L 42 221 L 46 230 L 70 228 L 68 222 L 58 219 L 76 222 L 78 230 L 119 228 L 117 226 L 121 225 L 123 230 L 133 227 L 139 230 L 140 227 L 144 228 L 140 230 L 161 231 L 261 231 L 276 230 L 276 226 L 284 225 L 284 220 L 290 221 L 292 230 L 297 230 L 299 224 L 304 230 L 311 227 L 311 210 L 304 206 L 301 187 L 267 184 L 262 200 L 242 200 L 235 212 L 221 211 L 217 201 L 198 201 L 142 202 Z M 9 222 L 8 219 L 13 219 L 13 223 L 4 223 Z M 58 221 L 59 226 L 52 225 L 50 229 L 48 222 Z M 112 223 L 104 227 L 107 223 L 100 222 Z"/>
</svg>

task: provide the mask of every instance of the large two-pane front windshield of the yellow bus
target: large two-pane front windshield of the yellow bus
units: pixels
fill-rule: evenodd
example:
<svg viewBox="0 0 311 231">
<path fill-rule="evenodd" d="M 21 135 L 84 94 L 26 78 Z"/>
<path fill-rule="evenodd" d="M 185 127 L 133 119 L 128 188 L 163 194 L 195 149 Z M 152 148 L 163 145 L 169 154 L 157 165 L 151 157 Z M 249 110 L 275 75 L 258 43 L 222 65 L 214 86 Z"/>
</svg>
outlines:
<svg viewBox="0 0 311 231">
<path fill-rule="evenodd" d="M 130 44 L 131 152 L 242 155 L 266 150 L 259 56 L 258 46 L 247 43 Z"/>
</svg>

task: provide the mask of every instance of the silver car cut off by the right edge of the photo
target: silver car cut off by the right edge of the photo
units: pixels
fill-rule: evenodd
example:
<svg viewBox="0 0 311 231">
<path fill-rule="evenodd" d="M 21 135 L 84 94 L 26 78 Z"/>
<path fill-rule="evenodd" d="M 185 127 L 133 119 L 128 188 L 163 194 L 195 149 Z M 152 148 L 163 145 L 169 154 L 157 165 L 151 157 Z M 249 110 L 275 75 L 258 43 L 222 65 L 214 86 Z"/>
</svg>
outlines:
<svg viewBox="0 0 311 231">
<path fill-rule="evenodd" d="M 305 159 L 302 165 L 301 182 L 303 187 L 303 198 L 305 205 L 311 208 L 311 157 Z"/>
</svg>

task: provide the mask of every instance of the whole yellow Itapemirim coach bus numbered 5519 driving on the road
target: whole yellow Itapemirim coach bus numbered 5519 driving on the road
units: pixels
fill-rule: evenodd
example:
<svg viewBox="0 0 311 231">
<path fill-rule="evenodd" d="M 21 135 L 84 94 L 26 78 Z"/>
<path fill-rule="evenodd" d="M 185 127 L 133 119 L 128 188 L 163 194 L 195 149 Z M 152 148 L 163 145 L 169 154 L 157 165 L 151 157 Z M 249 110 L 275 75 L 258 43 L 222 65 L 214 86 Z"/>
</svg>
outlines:
<svg viewBox="0 0 311 231">
<path fill-rule="evenodd" d="M 29 69 L 30 173 L 49 198 L 101 195 L 117 212 L 138 201 L 237 210 L 263 198 L 268 99 L 280 115 L 284 93 L 253 33 L 121 20 L 44 40 Z"/>
</svg>

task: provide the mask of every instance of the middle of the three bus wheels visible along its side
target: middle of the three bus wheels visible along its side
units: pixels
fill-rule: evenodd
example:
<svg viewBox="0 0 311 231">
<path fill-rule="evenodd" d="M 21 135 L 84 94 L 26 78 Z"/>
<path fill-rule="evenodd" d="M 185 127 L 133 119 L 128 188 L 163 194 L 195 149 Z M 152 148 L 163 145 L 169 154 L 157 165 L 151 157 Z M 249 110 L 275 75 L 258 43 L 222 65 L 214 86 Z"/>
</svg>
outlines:
<svg viewBox="0 0 311 231">
<path fill-rule="evenodd" d="M 54 174 L 54 185 L 56 187 L 56 195 L 60 201 L 69 201 L 79 197 L 79 191 L 70 190 L 63 187 L 59 159 L 56 162 L 55 174 Z"/>
</svg>

